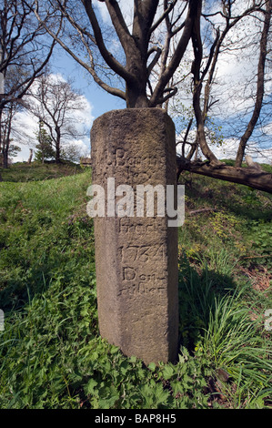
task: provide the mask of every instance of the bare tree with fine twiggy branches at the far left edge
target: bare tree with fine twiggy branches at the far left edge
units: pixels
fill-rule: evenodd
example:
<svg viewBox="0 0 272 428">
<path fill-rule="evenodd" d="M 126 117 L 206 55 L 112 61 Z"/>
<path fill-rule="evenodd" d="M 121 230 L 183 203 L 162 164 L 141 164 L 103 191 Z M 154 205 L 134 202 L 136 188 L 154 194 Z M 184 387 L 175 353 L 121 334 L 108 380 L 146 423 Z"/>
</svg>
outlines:
<svg viewBox="0 0 272 428">
<path fill-rule="evenodd" d="M 34 5 L 34 2 L 32 2 Z M 61 23 L 59 23 L 61 25 Z M 55 40 L 46 37 L 45 28 L 37 23 L 31 4 L 25 0 L 3 0 L 0 6 L 0 152 L 7 167 L 9 137 L 6 117 L 10 119 L 10 136 L 15 106 L 23 103 L 26 91 L 41 76 L 53 53 Z M 3 122 L 4 120 L 4 122 Z"/>
</svg>

